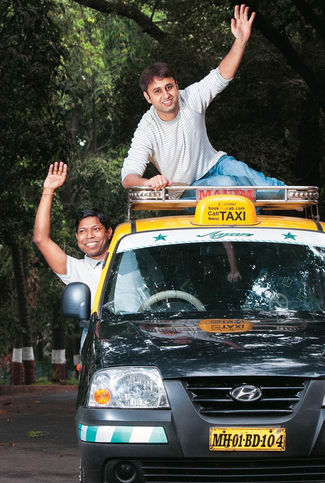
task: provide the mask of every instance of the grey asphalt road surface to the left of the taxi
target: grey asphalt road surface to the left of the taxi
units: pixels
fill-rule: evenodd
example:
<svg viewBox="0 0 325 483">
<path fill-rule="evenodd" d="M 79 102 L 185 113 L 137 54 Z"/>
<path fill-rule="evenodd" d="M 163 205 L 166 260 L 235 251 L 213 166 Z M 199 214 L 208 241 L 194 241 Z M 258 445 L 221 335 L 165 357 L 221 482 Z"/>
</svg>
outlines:
<svg viewBox="0 0 325 483">
<path fill-rule="evenodd" d="M 79 481 L 76 389 L 49 391 L 0 396 L 1 483 Z"/>
</svg>

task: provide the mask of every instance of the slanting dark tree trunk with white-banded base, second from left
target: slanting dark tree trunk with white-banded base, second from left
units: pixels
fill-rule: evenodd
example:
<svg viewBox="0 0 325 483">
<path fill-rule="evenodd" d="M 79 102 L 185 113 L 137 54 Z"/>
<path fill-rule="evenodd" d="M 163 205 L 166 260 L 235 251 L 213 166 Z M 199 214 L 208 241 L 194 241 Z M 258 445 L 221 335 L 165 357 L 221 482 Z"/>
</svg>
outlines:
<svg viewBox="0 0 325 483">
<path fill-rule="evenodd" d="M 25 384 L 36 381 L 35 361 L 31 343 L 30 317 L 27 303 L 26 281 L 23 269 L 22 250 L 18 243 L 11 245 L 13 275 L 17 290 L 19 321 L 22 328 L 22 360 L 25 374 Z"/>
</svg>

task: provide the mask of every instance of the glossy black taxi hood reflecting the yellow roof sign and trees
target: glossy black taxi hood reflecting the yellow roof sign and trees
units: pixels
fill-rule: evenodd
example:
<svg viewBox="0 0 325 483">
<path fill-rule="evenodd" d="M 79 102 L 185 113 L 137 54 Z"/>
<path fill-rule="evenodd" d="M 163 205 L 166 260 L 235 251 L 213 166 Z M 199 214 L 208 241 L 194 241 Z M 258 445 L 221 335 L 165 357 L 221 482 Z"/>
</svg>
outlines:
<svg viewBox="0 0 325 483">
<path fill-rule="evenodd" d="M 100 324 L 103 366 L 150 365 L 163 378 L 325 375 L 325 319 Z"/>
</svg>

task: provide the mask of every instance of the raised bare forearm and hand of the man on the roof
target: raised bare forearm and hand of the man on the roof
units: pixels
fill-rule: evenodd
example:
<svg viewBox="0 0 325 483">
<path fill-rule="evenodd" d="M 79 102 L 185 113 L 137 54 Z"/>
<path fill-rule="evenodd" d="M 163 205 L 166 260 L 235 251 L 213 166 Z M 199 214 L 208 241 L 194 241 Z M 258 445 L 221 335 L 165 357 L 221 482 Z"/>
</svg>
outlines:
<svg viewBox="0 0 325 483">
<path fill-rule="evenodd" d="M 235 40 L 227 55 L 219 64 L 219 72 L 224 79 L 231 79 L 241 62 L 246 43 L 250 37 L 251 25 L 255 18 L 252 12 L 248 18 L 249 7 L 244 4 L 234 7 L 234 18 L 231 18 L 231 32 Z"/>
</svg>

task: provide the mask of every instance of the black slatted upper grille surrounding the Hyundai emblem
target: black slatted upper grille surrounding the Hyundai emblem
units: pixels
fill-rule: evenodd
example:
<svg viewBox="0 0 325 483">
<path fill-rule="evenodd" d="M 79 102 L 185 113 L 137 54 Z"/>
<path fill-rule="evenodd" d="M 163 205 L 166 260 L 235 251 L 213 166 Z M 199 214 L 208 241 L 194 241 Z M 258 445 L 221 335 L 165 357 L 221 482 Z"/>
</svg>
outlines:
<svg viewBox="0 0 325 483">
<path fill-rule="evenodd" d="M 294 412 L 305 381 L 299 378 L 196 378 L 185 387 L 194 407 L 202 415 L 285 415 Z M 238 402 L 230 390 L 238 385 L 257 386 L 262 397 L 255 402 Z"/>
</svg>

